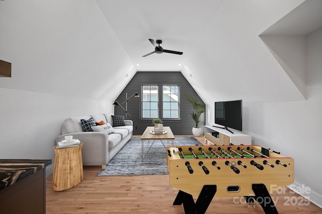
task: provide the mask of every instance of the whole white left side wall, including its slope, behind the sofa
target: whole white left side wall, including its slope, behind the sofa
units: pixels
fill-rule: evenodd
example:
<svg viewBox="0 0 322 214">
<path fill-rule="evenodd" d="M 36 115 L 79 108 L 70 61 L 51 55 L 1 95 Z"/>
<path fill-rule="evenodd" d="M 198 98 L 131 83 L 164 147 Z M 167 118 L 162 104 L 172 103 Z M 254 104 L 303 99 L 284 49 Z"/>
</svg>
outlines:
<svg viewBox="0 0 322 214">
<path fill-rule="evenodd" d="M 135 74 L 95 0 L 0 1 L 0 32 L 12 63 L 0 78 L 0 158 L 53 159 L 64 119 L 113 112 Z"/>
</svg>

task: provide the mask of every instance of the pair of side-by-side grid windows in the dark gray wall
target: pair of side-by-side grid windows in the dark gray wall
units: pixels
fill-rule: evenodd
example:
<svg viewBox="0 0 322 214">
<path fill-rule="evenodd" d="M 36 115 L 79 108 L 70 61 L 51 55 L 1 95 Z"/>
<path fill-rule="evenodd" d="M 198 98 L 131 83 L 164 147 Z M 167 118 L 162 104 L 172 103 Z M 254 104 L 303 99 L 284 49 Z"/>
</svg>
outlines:
<svg viewBox="0 0 322 214">
<path fill-rule="evenodd" d="M 180 119 L 179 85 L 142 85 L 141 94 L 141 119 Z"/>
</svg>

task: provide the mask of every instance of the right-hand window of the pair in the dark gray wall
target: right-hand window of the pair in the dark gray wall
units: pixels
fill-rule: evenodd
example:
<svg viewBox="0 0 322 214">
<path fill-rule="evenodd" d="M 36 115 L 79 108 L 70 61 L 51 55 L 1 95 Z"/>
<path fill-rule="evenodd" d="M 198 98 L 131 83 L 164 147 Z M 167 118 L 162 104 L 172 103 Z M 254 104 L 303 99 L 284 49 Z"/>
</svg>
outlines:
<svg viewBox="0 0 322 214">
<path fill-rule="evenodd" d="M 179 86 L 163 86 L 163 118 L 179 119 Z"/>
</svg>

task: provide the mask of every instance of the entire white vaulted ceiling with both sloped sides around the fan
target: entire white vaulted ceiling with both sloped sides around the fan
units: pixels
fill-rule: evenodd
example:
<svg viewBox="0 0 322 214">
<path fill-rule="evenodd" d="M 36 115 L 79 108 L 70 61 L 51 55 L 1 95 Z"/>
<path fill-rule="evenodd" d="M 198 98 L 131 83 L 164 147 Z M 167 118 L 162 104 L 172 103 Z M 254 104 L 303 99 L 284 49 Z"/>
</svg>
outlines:
<svg viewBox="0 0 322 214">
<path fill-rule="evenodd" d="M 305 100 L 321 14 L 321 0 L 0 1 L 0 87 L 112 101 L 136 71 L 181 71 L 207 104 Z M 184 54 L 142 57 L 148 39 Z"/>
</svg>

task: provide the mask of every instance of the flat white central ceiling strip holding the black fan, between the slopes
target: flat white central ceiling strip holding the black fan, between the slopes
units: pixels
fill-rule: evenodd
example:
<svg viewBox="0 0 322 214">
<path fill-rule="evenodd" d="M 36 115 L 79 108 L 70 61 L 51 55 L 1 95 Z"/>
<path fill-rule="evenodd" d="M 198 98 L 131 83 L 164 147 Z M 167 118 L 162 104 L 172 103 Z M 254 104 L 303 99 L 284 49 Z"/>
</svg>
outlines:
<svg viewBox="0 0 322 214">
<path fill-rule="evenodd" d="M 125 52 L 139 71 L 181 71 L 209 28 L 221 2 L 222 0 L 97 1 Z M 163 53 L 142 57 L 154 51 L 148 39 L 162 40 L 161 46 L 164 49 L 184 54 Z"/>
</svg>

